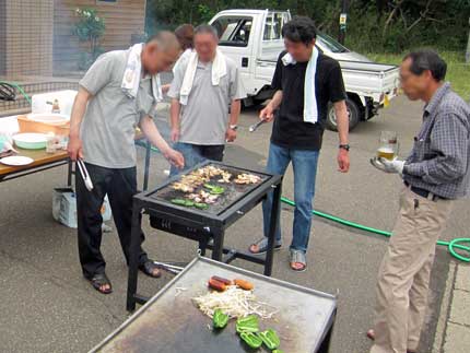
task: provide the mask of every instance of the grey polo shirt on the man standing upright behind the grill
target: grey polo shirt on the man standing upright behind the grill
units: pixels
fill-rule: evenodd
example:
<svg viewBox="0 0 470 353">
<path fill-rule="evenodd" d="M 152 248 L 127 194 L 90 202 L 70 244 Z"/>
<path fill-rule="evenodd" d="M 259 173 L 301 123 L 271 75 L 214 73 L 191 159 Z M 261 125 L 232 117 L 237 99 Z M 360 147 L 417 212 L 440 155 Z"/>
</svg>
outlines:
<svg viewBox="0 0 470 353">
<path fill-rule="evenodd" d="M 190 56 L 184 58 L 176 68 L 168 96 L 179 99 L 185 72 Z M 212 62 L 199 62 L 188 104 L 181 105 L 180 142 L 218 145 L 225 144 L 228 126 L 228 106 L 233 99 L 246 97 L 236 63 L 226 58 L 227 74 L 219 85 L 212 85 Z"/>
</svg>

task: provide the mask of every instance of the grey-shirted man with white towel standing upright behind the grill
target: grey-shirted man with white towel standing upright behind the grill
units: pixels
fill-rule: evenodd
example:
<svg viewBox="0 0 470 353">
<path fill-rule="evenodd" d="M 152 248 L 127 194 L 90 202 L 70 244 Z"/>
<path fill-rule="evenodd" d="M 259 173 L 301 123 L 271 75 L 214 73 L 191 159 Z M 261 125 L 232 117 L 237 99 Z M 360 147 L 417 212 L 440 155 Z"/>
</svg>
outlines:
<svg viewBox="0 0 470 353">
<path fill-rule="evenodd" d="M 215 28 L 198 26 L 196 51 L 181 59 L 168 92 L 172 140 L 185 156 L 186 169 L 205 158 L 222 161 L 225 141 L 236 139 L 240 99 L 246 94 L 238 68 L 218 50 L 218 44 Z M 177 173 L 173 167 L 172 175 Z"/>
</svg>

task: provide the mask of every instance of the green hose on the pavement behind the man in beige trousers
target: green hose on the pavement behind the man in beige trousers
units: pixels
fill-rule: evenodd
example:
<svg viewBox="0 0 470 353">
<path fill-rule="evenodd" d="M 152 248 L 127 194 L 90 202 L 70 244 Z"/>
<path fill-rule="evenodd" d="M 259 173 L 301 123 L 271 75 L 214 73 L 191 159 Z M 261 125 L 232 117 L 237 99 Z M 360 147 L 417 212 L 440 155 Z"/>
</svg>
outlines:
<svg viewBox="0 0 470 353">
<path fill-rule="evenodd" d="M 284 197 L 281 198 L 281 202 L 284 202 L 284 203 L 286 203 L 289 205 L 295 207 L 295 202 L 294 201 L 292 201 L 292 200 L 290 200 L 287 198 L 284 198 Z M 365 225 L 362 225 L 362 224 L 359 224 L 359 223 L 354 223 L 354 222 L 351 222 L 351 221 L 348 221 L 348 220 L 344 220 L 344 219 L 337 217 L 337 216 L 328 214 L 328 213 L 324 213 L 324 212 L 315 211 L 315 210 L 313 210 L 312 213 L 314 215 L 318 215 L 318 216 L 320 216 L 322 219 L 327 219 L 329 221 L 332 221 L 332 222 L 336 222 L 336 223 L 339 223 L 339 224 L 342 224 L 342 225 L 345 225 L 345 226 L 349 226 L 349 227 L 353 227 L 353 228 L 361 230 L 361 231 L 368 232 L 368 233 L 373 233 L 373 234 L 383 235 L 383 236 L 386 236 L 386 237 L 390 237 L 391 236 L 390 232 L 376 230 L 376 228 L 373 228 L 373 227 L 369 227 L 369 226 L 365 226 Z M 463 261 L 463 262 L 470 262 L 470 257 L 462 256 L 462 255 L 458 254 L 457 250 L 456 250 L 456 249 L 459 249 L 459 250 L 465 250 L 465 251 L 470 252 L 470 247 L 462 245 L 462 243 L 469 243 L 470 244 L 470 238 L 456 238 L 456 239 L 454 239 L 451 242 L 439 240 L 439 242 L 437 242 L 437 245 L 447 246 L 447 248 L 449 249 L 450 255 L 454 256 L 456 259 L 458 259 L 460 261 Z"/>
</svg>

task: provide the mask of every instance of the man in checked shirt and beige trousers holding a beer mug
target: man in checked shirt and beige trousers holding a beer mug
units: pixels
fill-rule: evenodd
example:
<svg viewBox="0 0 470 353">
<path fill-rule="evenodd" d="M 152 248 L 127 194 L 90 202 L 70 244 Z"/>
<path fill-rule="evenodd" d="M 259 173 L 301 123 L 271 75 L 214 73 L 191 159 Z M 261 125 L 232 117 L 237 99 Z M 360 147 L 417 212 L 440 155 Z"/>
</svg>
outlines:
<svg viewBox="0 0 470 353">
<path fill-rule="evenodd" d="M 406 161 L 373 160 L 402 175 L 400 212 L 381 262 L 371 353 L 416 352 L 426 311 L 436 242 L 454 200 L 470 193 L 470 107 L 444 83 L 447 64 L 434 51 L 409 54 L 400 68 L 411 101 L 426 103 Z"/>
</svg>

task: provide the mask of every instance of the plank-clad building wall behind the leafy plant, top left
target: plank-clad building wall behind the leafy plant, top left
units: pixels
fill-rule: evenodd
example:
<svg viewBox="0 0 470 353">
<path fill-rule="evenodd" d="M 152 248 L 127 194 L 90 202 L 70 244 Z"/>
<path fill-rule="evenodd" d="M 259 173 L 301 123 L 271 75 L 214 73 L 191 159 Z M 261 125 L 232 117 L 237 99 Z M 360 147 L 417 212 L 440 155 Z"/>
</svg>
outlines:
<svg viewBox="0 0 470 353">
<path fill-rule="evenodd" d="M 145 22 L 145 0 L 54 0 L 54 68 L 59 71 L 77 70 L 80 52 L 87 44 L 79 43 L 71 34 L 77 8 L 90 7 L 98 11 L 106 24 L 102 47 L 108 50 L 128 48 L 132 34 L 142 34 Z"/>
</svg>

